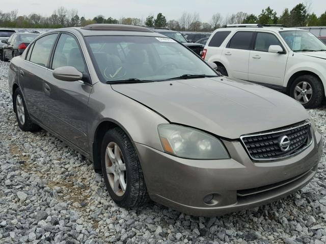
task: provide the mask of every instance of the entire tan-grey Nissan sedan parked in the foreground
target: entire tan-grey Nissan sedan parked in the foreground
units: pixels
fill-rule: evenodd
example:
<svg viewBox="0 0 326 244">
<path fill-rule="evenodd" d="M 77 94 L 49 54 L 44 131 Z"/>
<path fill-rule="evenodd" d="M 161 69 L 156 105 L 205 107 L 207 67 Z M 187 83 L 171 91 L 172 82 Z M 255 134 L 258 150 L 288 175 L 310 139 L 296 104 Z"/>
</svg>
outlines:
<svg viewBox="0 0 326 244">
<path fill-rule="evenodd" d="M 12 59 L 8 80 L 18 126 L 85 155 L 123 207 L 150 198 L 222 215 L 287 196 L 317 171 L 322 139 L 301 104 L 220 76 L 147 28 L 49 31 Z"/>
</svg>

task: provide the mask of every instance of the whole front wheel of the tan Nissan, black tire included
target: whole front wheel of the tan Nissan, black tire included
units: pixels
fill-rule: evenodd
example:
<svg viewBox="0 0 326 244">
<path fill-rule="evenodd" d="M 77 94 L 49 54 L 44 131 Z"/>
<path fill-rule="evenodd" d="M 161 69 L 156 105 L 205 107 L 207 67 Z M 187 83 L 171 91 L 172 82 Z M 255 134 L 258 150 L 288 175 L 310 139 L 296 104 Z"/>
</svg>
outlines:
<svg viewBox="0 0 326 244">
<path fill-rule="evenodd" d="M 101 165 L 107 191 L 119 206 L 140 206 L 147 201 L 147 188 L 137 152 L 122 129 L 113 128 L 105 133 Z"/>
</svg>

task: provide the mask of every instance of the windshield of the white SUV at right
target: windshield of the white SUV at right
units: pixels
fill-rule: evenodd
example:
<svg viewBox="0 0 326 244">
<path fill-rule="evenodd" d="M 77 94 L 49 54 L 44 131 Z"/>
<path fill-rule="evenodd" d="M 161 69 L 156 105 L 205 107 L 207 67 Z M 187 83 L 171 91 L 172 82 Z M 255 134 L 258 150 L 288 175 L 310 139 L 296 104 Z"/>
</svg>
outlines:
<svg viewBox="0 0 326 244">
<path fill-rule="evenodd" d="M 306 31 L 284 31 L 280 35 L 292 51 L 326 50 L 326 45 Z"/>
</svg>

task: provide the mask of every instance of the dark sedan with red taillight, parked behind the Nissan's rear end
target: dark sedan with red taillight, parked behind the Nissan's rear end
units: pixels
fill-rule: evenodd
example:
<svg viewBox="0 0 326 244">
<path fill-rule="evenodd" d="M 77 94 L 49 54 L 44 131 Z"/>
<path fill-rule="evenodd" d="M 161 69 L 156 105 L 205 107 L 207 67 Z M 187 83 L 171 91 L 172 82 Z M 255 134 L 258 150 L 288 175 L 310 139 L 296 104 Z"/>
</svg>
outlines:
<svg viewBox="0 0 326 244">
<path fill-rule="evenodd" d="M 39 36 L 34 33 L 14 33 L 8 40 L 2 40 L 3 51 L 2 60 L 8 61 L 15 56 L 19 56 L 28 45 Z"/>
</svg>

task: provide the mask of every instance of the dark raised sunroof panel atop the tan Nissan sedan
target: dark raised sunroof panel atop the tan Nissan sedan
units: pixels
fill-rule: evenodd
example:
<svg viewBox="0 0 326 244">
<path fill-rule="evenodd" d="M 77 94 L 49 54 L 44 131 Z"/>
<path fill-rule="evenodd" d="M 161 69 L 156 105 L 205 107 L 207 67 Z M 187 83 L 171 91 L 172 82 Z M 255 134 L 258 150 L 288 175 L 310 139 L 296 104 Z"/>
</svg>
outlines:
<svg viewBox="0 0 326 244">
<path fill-rule="evenodd" d="M 81 29 L 87 29 L 90 31 L 153 32 L 146 27 L 126 24 L 89 24 Z"/>
</svg>

